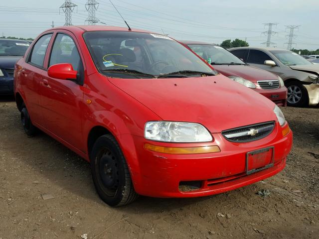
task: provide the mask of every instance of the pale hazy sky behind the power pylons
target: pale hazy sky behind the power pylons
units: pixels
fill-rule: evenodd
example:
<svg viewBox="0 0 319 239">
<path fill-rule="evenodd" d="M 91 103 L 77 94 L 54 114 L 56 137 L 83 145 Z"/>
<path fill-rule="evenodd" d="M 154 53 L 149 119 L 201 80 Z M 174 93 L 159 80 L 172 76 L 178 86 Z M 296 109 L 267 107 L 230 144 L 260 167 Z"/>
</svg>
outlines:
<svg viewBox="0 0 319 239">
<path fill-rule="evenodd" d="M 126 26 L 109 0 L 99 2 L 96 17 L 103 25 Z M 239 38 L 250 46 L 265 46 L 263 23 L 278 23 L 271 37 L 287 48 L 287 25 L 300 25 L 293 40 L 297 49 L 319 48 L 319 0 L 112 0 L 132 28 L 168 34 L 177 40 L 220 44 Z M 72 0 L 73 25 L 85 25 L 87 0 Z M 64 0 L 12 0 L 0 3 L 0 35 L 35 38 L 54 26 L 64 25 L 59 7 Z M 103 22 L 103 23 L 101 23 Z"/>
</svg>

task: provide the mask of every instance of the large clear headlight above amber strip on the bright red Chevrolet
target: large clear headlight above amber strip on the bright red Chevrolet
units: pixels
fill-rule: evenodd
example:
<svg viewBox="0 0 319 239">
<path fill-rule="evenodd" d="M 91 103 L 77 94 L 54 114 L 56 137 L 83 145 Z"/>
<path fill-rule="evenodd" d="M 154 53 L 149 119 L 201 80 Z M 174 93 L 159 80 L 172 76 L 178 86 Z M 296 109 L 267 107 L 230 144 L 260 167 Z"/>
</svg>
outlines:
<svg viewBox="0 0 319 239">
<path fill-rule="evenodd" d="M 199 123 L 149 121 L 145 124 L 145 138 L 163 142 L 209 142 L 213 138 Z"/>
</svg>

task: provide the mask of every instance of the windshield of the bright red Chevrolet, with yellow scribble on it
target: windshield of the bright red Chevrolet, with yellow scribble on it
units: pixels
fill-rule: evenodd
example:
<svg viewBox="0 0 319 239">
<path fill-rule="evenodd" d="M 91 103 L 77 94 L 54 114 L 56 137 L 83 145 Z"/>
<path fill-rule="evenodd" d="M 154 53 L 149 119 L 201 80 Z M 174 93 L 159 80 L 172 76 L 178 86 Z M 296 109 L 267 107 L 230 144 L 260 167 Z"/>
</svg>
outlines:
<svg viewBox="0 0 319 239">
<path fill-rule="evenodd" d="M 139 73 L 144 73 L 143 78 L 154 78 L 181 71 L 215 74 L 195 54 L 165 35 L 90 31 L 83 37 L 96 67 L 107 76 L 141 78 Z"/>
</svg>

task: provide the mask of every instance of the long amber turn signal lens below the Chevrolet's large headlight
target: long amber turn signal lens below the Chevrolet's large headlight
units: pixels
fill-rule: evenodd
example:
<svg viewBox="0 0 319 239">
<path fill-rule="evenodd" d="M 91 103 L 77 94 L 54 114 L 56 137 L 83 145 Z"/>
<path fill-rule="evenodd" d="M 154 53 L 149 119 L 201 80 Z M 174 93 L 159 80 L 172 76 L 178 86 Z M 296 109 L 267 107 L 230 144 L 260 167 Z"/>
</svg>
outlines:
<svg viewBox="0 0 319 239">
<path fill-rule="evenodd" d="M 201 147 L 163 147 L 146 143 L 144 148 L 160 153 L 170 154 L 196 154 L 196 153 L 216 153 L 220 152 L 220 148 L 217 145 L 214 146 L 201 146 Z"/>
</svg>

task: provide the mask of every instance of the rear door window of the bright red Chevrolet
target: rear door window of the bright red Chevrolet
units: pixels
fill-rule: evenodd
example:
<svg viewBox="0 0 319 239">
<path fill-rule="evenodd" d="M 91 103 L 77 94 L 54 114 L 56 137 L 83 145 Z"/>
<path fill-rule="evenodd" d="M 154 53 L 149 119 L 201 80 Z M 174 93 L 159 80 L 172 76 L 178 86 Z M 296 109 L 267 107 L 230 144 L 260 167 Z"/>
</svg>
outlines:
<svg viewBox="0 0 319 239">
<path fill-rule="evenodd" d="M 43 67 L 45 52 L 49 45 L 51 37 L 52 33 L 41 36 L 39 40 L 34 44 L 31 52 L 31 57 L 29 58 L 30 63 Z"/>
</svg>

